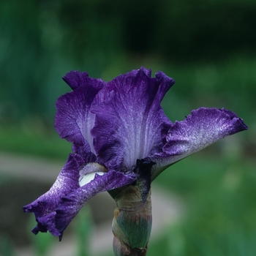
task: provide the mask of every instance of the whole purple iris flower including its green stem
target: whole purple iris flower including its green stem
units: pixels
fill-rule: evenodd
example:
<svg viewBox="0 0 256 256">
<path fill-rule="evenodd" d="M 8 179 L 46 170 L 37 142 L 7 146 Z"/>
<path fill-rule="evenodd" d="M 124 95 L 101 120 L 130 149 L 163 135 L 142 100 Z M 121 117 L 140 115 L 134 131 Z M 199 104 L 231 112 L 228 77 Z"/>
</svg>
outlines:
<svg viewBox="0 0 256 256">
<path fill-rule="evenodd" d="M 172 123 L 161 108 L 173 78 L 140 68 L 106 83 L 71 71 L 72 89 L 56 102 L 56 131 L 72 143 L 72 154 L 48 192 L 24 206 L 33 212 L 37 234 L 61 240 L 69 222 L 94 195 L 116 200 L 116 255 L 146 255 L 151 233 L 151 181 L 170 165 L 247 129 L 230 110 L 199 108 Z"/>
</svg>

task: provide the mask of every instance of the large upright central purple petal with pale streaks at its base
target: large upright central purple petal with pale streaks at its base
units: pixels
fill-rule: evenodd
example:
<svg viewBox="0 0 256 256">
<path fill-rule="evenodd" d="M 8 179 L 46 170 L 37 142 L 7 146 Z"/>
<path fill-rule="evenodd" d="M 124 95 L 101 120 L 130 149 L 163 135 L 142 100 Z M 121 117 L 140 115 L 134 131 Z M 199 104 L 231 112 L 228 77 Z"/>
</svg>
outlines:
<svg viewBox="0 0 256 256">
<path fill-rule="evenodd" d="M 136 159 L 161 151 L 162 134 L 171 122 L 160 106 L 174 80 L 158 72 L 141 68 L 110 81 L 103 94 L 104 102 L 93 108 L 96 114 L 91 131 L 97 157 L 109 169 L 131 169 Z"/>
</svg>

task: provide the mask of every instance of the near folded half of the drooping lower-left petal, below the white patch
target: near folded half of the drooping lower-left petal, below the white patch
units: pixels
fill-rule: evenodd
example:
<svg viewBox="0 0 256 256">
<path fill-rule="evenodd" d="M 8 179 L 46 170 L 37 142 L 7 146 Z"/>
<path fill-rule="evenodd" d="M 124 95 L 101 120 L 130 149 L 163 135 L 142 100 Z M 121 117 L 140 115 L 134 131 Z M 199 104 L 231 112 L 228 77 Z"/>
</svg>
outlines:
<svg viewBox="0 0 256 256">
<path fill-rule="evenodd" d="M 50 226 L 55 226 L 59 233 L 63 233 L 69 222 L 78 214 L 83 205 L 99 192 L 124 187 L 131 184 L 136 179 L 134 174 L 125 175 L 124 173 L 110 170 L 108 173 L 95 174 L 95 177 L 88 184 L 83 185 L 71 192 L 66 197 L 61 198 L 56 216 L 52 219 Z"/>
</svg>

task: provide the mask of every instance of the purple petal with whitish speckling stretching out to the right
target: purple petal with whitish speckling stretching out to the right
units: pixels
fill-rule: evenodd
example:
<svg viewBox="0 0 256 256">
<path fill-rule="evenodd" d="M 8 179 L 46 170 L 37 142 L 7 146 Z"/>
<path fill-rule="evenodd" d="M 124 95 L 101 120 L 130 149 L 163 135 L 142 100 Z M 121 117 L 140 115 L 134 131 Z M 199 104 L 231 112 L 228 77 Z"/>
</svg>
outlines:
<svg viewBox="0 0 256 256">
<path fill-rule="evenodd" d="M 176 121 L 170 127 L 162 153 L 150 158 L 157 163 L 153 167 L 151 180 L 180 159 L 244 129 L 247 129 L 244 121 L 230 110 L 223 108 L 193 110 L 184 121 Z"/>
</svg>

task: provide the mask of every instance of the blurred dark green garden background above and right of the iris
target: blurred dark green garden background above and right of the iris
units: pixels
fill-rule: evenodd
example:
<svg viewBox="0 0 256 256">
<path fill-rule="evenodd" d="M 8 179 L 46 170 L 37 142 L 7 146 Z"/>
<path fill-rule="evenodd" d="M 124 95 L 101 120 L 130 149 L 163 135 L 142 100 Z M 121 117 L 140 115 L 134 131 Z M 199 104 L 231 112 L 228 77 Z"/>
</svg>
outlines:
<svg viewBox="0 0 256 256">
<path fill-rule="evenodd" d="M 162 104 L 171 121 L 224 107 L 249 127 L 157 179 L 186 213 L 148 255 L 255 255 L 254 0 L 1 0 L 0 151 L 64 163 L 71 146 L 53 128 L 69 91 L 61 77 L 80 69 L 111 80 L 141 66 L 176 80 Z"/>
</svg>

